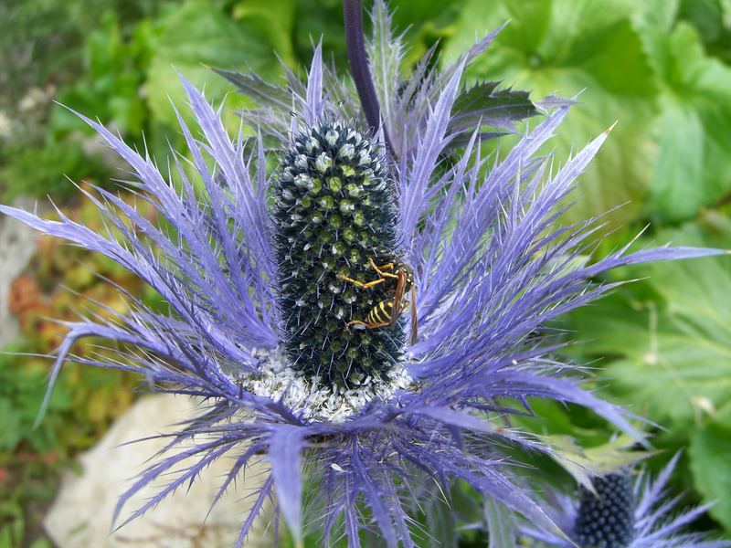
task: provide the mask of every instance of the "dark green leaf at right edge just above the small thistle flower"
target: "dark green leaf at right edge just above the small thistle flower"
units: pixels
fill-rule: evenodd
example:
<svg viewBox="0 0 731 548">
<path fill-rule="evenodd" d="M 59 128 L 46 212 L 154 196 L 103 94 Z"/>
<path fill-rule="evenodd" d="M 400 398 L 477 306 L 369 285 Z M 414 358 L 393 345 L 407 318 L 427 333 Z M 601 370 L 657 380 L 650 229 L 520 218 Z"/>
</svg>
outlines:
<svg viewBox="0 0 731 548">
<path fill-rule="evenodd" d="M 691 438 L 688 452 L 695 487 L 704 502 L 713 502 L 709 513 L 731 531 L 731 406 L 726 420 L 712 420 Z"/>
</svg>

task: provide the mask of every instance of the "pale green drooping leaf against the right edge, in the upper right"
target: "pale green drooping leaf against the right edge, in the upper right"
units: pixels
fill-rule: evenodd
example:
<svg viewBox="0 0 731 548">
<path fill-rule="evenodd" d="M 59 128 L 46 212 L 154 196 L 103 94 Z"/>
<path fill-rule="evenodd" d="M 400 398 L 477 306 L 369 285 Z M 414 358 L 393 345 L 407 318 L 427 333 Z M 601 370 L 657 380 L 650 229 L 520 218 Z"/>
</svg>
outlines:
<svg viewBox="0 0 731 548">
<path fill-rule="evenodd" d="M 651 205 L 663 218 L 684 219 L 731 192 L 731 68 L 706 57 L 686 23 L 644 37 L 662 75 Z"/>
</svg>

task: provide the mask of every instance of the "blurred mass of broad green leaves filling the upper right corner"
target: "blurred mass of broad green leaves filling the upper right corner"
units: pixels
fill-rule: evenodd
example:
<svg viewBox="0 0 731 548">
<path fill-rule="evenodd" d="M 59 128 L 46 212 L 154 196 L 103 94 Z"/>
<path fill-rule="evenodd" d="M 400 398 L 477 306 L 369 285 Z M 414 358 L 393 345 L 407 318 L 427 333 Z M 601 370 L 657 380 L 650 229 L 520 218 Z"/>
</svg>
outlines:
<svg viewBox="0 0 731 548">
<path fill-rule="evenodd" d="M 619 121 L 570 218 L 629 202 L 609 216 L 616 225 L 675 223 L 731 193 L 731 67 L 705 51 L 704 28 L 685 18 L 718 3 L 470 2 L 447 58 L 483 25 L 510 19 L 471 76 L 504 79 L 538 97 L 580 93 L 581 107 L 557 136 L 559 157 Z"/>
</svg>

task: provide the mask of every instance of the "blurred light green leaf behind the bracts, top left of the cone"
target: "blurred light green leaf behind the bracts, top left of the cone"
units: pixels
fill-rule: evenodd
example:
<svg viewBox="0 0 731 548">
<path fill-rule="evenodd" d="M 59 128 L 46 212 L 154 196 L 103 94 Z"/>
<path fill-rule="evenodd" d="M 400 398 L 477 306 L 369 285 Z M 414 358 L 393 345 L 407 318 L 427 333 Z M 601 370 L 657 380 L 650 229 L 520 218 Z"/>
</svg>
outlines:
<svg viewBox="0 0 731 548">
<path fill-rule="evenodd" d="M 186 101 L 178 74 L 199 89 L 205 87 L 207 100 L 217 102 L 230 88 L 209 67 L 253 71 L 263 77 L 281 70 L 265 29 L 246 19 L 232 20 L 207 0 L 188 0 L 166 16 L 154 52 L 145 86 L 147 101 L 155 119 L 170 125 L 176 124 L 171 101 L 178 108 Z M 238 124 L 238 117 L 233 118 Z"/>
</svg>

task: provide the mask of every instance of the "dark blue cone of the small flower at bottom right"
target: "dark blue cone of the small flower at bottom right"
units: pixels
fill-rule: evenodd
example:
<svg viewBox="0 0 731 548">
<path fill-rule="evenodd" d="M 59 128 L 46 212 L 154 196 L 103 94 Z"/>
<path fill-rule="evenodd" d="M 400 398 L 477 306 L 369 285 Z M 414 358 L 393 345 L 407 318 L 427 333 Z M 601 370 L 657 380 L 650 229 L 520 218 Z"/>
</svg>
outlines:
<svg viewBox="0 0 731 548">
<path fill-rule="evenodd" d="M 634 495 L 627 474 L 594 479 L 597 494 L 581 488 L 575 525 L 581 548 L 626 548 L 634 532 Z"/>
</svg>

